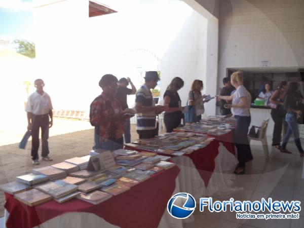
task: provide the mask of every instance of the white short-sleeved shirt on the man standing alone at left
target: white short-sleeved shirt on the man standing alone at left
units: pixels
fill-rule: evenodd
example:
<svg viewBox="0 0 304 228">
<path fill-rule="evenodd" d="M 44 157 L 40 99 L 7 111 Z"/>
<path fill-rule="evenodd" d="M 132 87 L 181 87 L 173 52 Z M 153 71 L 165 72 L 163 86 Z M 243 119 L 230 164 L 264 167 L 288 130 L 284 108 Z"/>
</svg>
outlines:
<svg viewBox="0 0 304 228">
<path fill-rule="evenodd" d="M 52 109 L 51 97 L 46 92 L 41 95 L 35 91 L 28 97 L 25 111 L 34 115 L 45 115 Z"/>
</svg>

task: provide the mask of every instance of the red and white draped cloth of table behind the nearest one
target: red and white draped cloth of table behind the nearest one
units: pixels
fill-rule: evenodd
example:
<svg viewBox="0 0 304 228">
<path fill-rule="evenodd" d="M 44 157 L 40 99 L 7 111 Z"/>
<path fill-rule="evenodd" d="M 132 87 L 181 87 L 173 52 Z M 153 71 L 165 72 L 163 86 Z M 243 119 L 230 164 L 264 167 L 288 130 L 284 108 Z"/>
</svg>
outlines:
<svg viewBox="0 0 304 228">
<path fill-rule="evenodd" d="M 181 192 L 192 194 L 195 198 L 221 195 L 223 192 L 234 191 L 233 171 L 238 164 L 235 158 L 233 132 L 221 136 L 210 136 L 215 140 L 206 147 L 183 156 L 170 156 L 171 161 L 180 168 L 178 175 Z M 126 146 L 125 149 L 143 151 L 136 147 Z"/>
</svg>

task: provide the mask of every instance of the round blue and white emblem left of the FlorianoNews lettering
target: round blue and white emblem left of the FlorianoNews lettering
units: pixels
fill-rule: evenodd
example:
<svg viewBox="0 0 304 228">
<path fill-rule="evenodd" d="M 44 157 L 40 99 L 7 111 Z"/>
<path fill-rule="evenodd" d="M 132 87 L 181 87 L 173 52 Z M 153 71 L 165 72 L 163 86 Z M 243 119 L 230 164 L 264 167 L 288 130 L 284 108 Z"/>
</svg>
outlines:
<svg viewBox="0 0 304 228">
<path fill-rule="evenodd" d="M 181 205 L 181 206 L 180 206 Z M 188 193 L 175 194 L 168 201 L 167 210 L 174 218 L 187 218 L 194 212 L 196 202 L 194 197 Z"/>
</svg>

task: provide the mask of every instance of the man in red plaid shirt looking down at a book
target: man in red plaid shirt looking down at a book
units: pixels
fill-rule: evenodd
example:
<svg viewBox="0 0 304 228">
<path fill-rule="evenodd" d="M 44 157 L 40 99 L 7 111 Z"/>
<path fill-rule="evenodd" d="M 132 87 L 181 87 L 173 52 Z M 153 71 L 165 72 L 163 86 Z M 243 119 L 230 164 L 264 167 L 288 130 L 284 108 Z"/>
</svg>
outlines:
<svg viewBox="0 0 304 228">
<path fill-rule="evenodd" d="M 116 150 L 123 148 L 125 120 L 119 101 L 115 98 L 118 80 L 112 74 L 105 74 L 99 81 L 103 92 L 90 105 L 90 123 L 95 127 L 94 149 Z"/>
</svg>

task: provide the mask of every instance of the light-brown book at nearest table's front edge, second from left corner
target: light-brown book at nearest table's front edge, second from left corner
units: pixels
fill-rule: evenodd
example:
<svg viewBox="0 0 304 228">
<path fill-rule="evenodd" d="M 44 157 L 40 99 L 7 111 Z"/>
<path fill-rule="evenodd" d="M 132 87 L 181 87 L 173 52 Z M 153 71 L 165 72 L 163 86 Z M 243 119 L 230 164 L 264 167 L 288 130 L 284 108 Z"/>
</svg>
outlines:
<svg viewBox="0 0 304 228">
<path fill-rule="evenodd" d="M 14 197 L 20 202 L 31 207 L 52 200 L 52 196 L 45 194 L 35 188 L 26 192 L 18 193 Z"/>
</svg>

